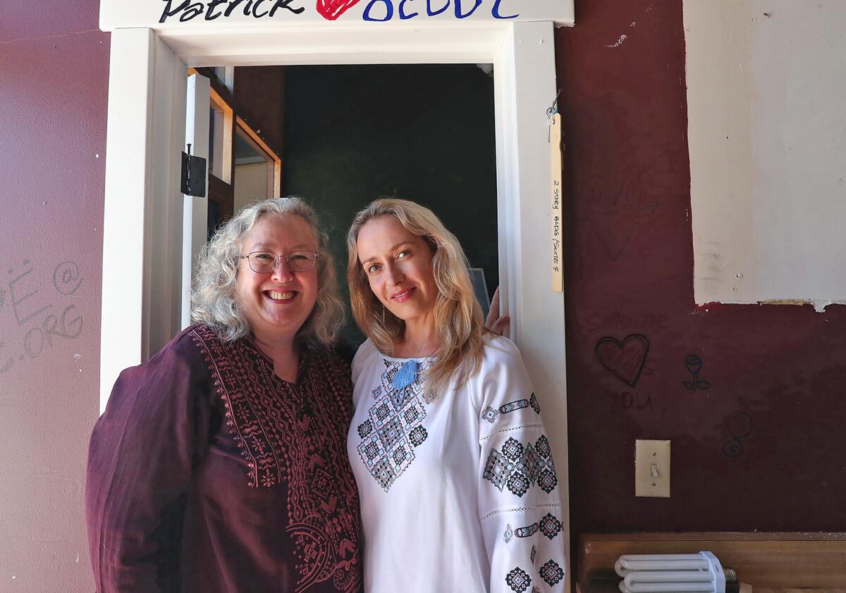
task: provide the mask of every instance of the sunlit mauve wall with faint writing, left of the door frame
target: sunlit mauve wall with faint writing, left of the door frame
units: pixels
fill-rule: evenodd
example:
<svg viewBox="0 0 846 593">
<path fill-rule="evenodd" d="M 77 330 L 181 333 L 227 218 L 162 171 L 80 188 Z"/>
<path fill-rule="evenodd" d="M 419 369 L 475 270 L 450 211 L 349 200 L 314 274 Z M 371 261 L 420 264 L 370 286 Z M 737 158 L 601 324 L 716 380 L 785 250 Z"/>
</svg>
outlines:
<svg viewBox="0 0 846 593">
<path fill-rule="evenodd" d="M 96 0 L 0 3 L 0 590 L 91 591 L 109 37 Z"/>
</svg>

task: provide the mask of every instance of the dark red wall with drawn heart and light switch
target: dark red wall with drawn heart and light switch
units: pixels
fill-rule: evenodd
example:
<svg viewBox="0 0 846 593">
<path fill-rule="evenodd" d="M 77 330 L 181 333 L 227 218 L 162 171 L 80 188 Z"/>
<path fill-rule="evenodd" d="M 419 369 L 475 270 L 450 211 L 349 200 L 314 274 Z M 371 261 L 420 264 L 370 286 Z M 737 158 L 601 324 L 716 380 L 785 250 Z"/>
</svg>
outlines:
<svg viewBox="0 0 846 593">
<path fill-rule="evenodd" d="M 695 307 L 682 3 L 577 0 L 576 23 L 556 33 L 574 536 L 846 530 L 846 307 Z M 634 334 L 636 383 L 642 340 L 602 351 L 632 386 L 595 349 Z M 636 438 L 672 440 L 672 498 L 634 498 Z"/>
</svg>

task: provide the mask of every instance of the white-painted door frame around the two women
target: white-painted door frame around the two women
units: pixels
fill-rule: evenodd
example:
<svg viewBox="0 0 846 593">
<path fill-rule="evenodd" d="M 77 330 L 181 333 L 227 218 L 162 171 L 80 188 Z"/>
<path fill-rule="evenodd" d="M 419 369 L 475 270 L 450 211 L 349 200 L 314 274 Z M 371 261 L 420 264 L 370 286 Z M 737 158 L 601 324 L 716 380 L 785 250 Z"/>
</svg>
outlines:
<svg viewBox="0 0 846 593">
<path fill-rule="evenodd" d="M 103 223 L 101 408 L 118 373 L 180 329 L 188 66 L 493 63 L 502 305 L 545 406 L 569 552 L 563 293 L 550 279 L 552 22 L 380 29 L 112 32 Z M 455 97 L 460 101 L 461 97 Z M 202 209 L 198 209 L 202 210 Z M 568 553 L 569 559 L 569 553 Z M 569 560 L 568 560 L 569 565 Z M 568 577 L 569 577 L 569 570 Z"/>
</svg>

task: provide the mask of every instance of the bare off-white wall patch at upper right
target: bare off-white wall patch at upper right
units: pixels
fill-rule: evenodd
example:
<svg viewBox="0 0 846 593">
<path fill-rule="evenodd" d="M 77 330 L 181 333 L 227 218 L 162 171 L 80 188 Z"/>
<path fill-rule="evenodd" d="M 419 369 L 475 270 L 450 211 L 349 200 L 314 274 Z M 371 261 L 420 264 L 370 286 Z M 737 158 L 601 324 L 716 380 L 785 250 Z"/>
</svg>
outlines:
<svg viewBox="0 0 846 593">
<path fill-rule="evenodd" d="M 846 302 L 846 2 L 684 0 L 695 299 Z"/>
</svg>

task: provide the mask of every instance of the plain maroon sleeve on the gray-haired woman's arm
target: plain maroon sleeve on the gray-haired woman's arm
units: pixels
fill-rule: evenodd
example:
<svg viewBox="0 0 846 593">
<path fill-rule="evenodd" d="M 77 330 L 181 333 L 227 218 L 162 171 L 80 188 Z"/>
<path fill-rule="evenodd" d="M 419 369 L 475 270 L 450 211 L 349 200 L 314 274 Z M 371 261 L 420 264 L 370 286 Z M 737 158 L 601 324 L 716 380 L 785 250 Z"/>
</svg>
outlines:
<svg viewBox="0 0 846 593">
<path fill-rule="evenodd" d="M 121 373 L 94 427 L 85 514 L 99 593 L 179 590 L 186 492 L 210 422 L 204 374 L 168 345 Z"/>
</svg>

